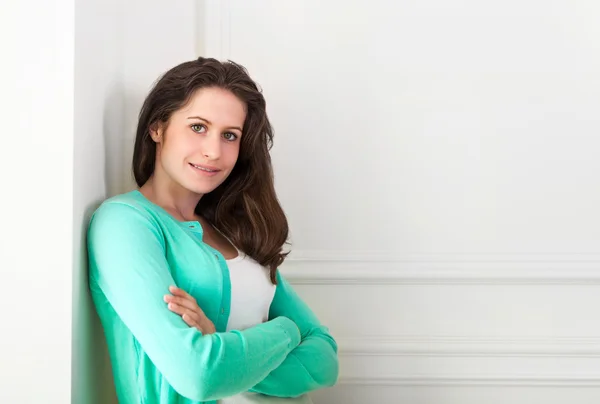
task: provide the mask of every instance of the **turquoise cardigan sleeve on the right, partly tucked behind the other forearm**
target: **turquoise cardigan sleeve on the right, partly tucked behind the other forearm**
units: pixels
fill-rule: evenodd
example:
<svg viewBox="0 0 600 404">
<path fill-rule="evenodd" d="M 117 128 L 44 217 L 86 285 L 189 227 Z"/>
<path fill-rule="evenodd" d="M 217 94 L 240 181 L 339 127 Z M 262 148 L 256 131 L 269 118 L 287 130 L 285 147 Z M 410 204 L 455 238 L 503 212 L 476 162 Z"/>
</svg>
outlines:
<svg viewBox="0 0 600 404">
<path fill-rule="evenodd" d="M 294 321 L 302 340 L 287 358 L 250 391 L 277 397 L 297 397 L 337 382 L 337 343 L 288 281 L 277 273 L 277 289 L 269 318 Z"/>
</svg>

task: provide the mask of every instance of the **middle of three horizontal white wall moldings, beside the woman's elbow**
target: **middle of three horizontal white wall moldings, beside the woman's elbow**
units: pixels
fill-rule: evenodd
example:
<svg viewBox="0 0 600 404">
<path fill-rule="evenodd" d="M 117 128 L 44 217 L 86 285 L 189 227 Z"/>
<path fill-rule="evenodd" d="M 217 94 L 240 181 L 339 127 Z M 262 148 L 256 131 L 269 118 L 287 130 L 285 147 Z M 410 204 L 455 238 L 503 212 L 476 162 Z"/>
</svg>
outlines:
<svg viewBox="0 0 600 404">
<path fill-rule="evenodd" d="M 600 357 L 600 337 L 389 336 L 338 338 L 340 356 Z"/>
</svg>

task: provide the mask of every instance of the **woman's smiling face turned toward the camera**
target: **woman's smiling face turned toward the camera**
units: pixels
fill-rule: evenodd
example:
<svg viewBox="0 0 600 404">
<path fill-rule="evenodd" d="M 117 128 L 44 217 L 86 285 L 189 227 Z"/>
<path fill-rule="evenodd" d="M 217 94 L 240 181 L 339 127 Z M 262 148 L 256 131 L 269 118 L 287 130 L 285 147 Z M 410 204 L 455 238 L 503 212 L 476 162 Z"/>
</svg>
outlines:
<svg viewBox="0 0 600 404">
<path fill-rule="evenodd" d="M 166 174 L 156 177 L 199 195 L 213 191 L 237 162 L 245 119 L 245 104 L 231 92 L 198 90 L 166 128 L 151 131 L 157 143 L 155 174 Z"/>
</svg>

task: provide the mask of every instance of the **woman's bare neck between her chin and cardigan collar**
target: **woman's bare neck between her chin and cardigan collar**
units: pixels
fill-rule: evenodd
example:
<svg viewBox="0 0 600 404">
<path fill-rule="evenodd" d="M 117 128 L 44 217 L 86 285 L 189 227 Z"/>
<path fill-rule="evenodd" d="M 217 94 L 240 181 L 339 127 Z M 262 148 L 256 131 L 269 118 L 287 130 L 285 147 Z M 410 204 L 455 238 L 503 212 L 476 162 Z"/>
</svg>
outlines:
<svg viewBox="0 0 600 404">
<path fill-rule="evenodd" d="M 196 206 L 202 195 L 191 192 L 172 180 L 163 178 L 157 170 L 140 188 L 148 199 L 181 221 L 197 220 Z"/>
</svg>

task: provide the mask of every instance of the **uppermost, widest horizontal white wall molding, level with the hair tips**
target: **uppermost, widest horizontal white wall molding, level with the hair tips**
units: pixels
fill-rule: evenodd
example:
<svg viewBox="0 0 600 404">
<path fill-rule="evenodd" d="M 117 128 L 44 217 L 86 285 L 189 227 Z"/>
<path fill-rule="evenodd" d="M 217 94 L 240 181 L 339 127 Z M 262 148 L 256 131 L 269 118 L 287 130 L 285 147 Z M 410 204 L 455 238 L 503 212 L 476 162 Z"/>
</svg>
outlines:
<svg viewBox="0 0 600 404">
<path fill-rule="evenodd" d="M 600 254 L 295 251 L 282 272 L 299 285 L 600 285 Z"/>
</svg>

